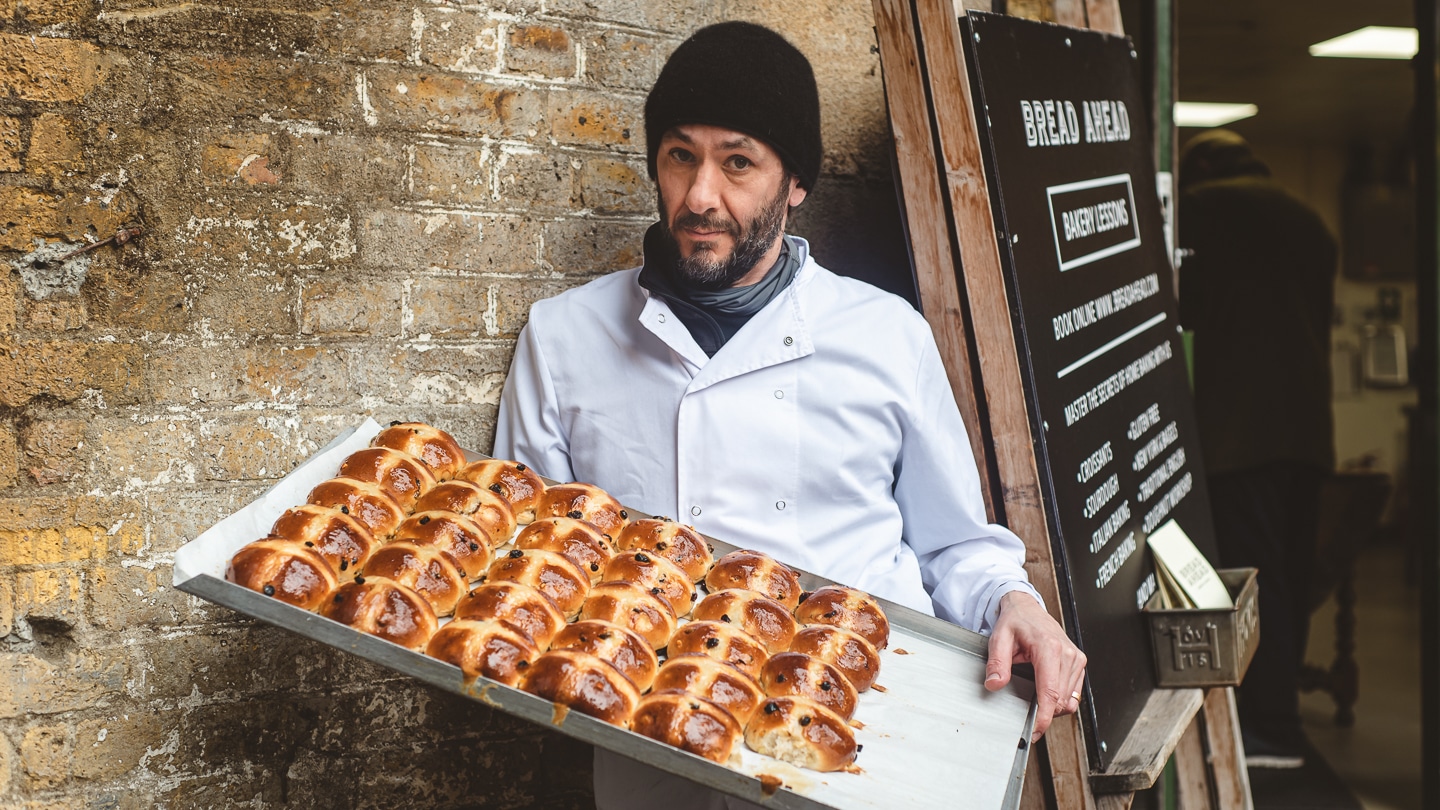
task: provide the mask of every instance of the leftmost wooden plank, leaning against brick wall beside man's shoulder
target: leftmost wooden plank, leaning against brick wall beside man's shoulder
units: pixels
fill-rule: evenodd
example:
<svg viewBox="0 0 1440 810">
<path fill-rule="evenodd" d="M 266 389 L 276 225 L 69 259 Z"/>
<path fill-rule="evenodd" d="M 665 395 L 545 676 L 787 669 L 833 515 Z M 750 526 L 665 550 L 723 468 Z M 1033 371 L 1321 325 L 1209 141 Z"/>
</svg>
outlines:
<svg viewBox="0 0 1440 810">
<path fill-rule="evenodd" d="M 953 9 L 953 7 L 952 7 Z M 988 467 L 985 431 L 975 401 L 975 376 L 971 369 L 969 339 L 965 330 L 963 303 L 956 281 L 955 252 L 950 245 L 949 219 L 936 174 L 935 138 L 926 115 L 924 78 L 914 20 L 906 0 L 874 0 L 876 37 L 890 107 L 890 130 L 896 141 L 896 166 L 900 174 L 903 216 L 910 239 L 920 311 L 930 323 L 945 362 L 945 372 L 969 434 L 971 450 L 982 470 Z M 953 13 L 953 12 L 952 12 Z M 985 512 L 995 520 L 991 479 L 981 474 Z"/>
</svg>

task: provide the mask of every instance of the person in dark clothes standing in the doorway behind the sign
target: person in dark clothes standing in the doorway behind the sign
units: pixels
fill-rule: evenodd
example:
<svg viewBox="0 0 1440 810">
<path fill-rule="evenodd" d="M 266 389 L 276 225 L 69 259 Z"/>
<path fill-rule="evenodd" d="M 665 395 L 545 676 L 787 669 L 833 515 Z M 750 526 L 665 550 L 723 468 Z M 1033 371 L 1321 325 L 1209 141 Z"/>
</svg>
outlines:
<svg viewBox="0 0 1440 810">
<path fill-rule="evenodd" d="M 1320 483 L 1335 467 L 1335 241 L 1228 130 L 1185 144 L 1179 180 L 1194 251 L 1179 308 L 1220 564 L 1260 569 L 1260 646 L 1238 692 L 1246 761 L 1296 768 Z"/>
</svg>

